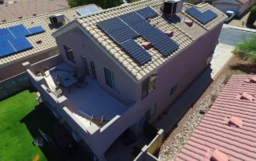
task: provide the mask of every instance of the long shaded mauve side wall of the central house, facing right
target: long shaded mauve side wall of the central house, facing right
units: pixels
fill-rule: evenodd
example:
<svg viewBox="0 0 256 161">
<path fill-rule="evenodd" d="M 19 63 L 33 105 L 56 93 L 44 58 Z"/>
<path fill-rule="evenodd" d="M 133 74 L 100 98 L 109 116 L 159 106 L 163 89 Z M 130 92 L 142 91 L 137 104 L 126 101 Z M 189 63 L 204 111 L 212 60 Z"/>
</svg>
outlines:
<svg viewBox="0 0 256 161">
<path fill-rule="evenodd" d="M 142 107 L 149 108 L 151 104 L 158 103 L 157 114 L 162 113 L 166 107 L 202 72 L 206 67 L 206 58 L 209 57 L 218 43 L 218 36 L 222 24 L 200 37 L 194 44 L 184 49 L 171 61 L 158 69 L 158 81 L 154 92 L 142 100 Z M 177 91 L 169 96 L 170 89 L 178 84 Z M 154 118 L 155 118 L 154 117 Z"/>
</svg>

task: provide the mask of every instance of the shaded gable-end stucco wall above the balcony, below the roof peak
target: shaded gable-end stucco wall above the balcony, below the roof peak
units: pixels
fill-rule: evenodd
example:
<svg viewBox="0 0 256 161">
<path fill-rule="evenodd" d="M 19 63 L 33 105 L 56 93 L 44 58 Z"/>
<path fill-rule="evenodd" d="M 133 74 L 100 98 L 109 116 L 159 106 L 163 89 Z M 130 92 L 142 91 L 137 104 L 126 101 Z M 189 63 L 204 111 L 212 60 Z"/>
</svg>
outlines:
<svg viewBox="0 0 256 161">
<path fill-rule="evenodd" d="M 121 100 L 125 104 L 134 103 L 138 94 L 136 91 L 136 89 L 138 89 L 137 84 L 135 84 L 134 81 L 127 77 L 126 73 L 124 73 L 122 69 L 120 69 L 120 67 L 116 65 L 114 61 L 112 61 L 110 57 L 102 51 L 102 49 L 99 49 L 98 46 L 95 45 L 94 42 L 91 41 L 85 33 L 82 33 L 82 31 L 78 31 L 77 29 L 72 29 L 69 32 L 57 37 L 56 41 L 62 58 L 67 64 L 71 66 L 77 66 L 78 70 L 84 73 L 84 67 L 82 65 L 80 56 L 85 56 L 87 58 L 87 63 L 89 66 L 89 61 L 94 61 L 98 84 L 104 88 L 106 92 L 109 92 L 112 96 L 116 97 L 118 100 Z M 75 64 L 66 58 L 63 45 L 73 49 Z M 104 67 L 110 69 L 112 72 L 118 75 L 119 84 L 121 87 L 120 92 L 117 92 L 113 88 L 110 88 L 106 85 L 103 70 Z"/>
</svg>

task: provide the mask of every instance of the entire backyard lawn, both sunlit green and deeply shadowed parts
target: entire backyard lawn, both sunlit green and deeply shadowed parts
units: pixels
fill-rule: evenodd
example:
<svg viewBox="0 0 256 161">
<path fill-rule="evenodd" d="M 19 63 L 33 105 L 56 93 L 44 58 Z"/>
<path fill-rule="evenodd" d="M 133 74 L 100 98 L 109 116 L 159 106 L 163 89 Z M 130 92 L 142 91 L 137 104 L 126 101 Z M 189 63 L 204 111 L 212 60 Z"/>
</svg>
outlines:
<svg viewBox="0 0 256 161">
<path fill-rule="evenodd" d="M 74 142 L 44 104 L 29 90 L 0 101 L 0 161 L 92 160 L 89 151 Z M 52 139 L 42 147 L 32 144 L 41 129 Z M 66 144 L 63 144 L 66 143 Z M 72 148 L 67 145 L 72 143 Z"/>
</svg>

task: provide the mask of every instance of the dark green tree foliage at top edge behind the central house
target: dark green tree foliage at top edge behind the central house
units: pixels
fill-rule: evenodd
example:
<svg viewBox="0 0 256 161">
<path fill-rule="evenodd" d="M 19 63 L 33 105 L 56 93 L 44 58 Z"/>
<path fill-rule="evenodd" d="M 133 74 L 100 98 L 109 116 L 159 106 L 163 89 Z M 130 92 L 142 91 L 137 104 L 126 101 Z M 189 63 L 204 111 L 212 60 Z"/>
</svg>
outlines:
<svg viewBox="0 0 256 161">
<path fill-rule="evenodd" d="M 67 0 L 67 2 L 70 7 L 94 3 L 95 5 L 101 6 L 102 9 L 107 9 L 122 4 L 122 0 Z"/>
</svg>

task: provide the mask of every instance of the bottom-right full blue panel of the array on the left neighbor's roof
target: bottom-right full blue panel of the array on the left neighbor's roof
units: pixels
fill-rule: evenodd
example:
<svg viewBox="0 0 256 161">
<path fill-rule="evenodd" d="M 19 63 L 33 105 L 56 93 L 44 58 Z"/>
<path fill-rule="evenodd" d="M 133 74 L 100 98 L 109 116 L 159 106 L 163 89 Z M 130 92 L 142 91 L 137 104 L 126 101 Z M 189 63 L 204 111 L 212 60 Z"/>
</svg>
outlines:
<svg viewBox="0 0 256 161">
<path fill-rule="evenodd" d="M 14 46 L 14 48 L 18 52 L 22 52 L 26 49 L 33 48 L 33 46 L 30 44 L 30 42 L 26 40 L 26 37 L 18 37 L 16 39 L 14 39 L 13 41 L 10 41 L 10 43 Z"/>
</svg>

